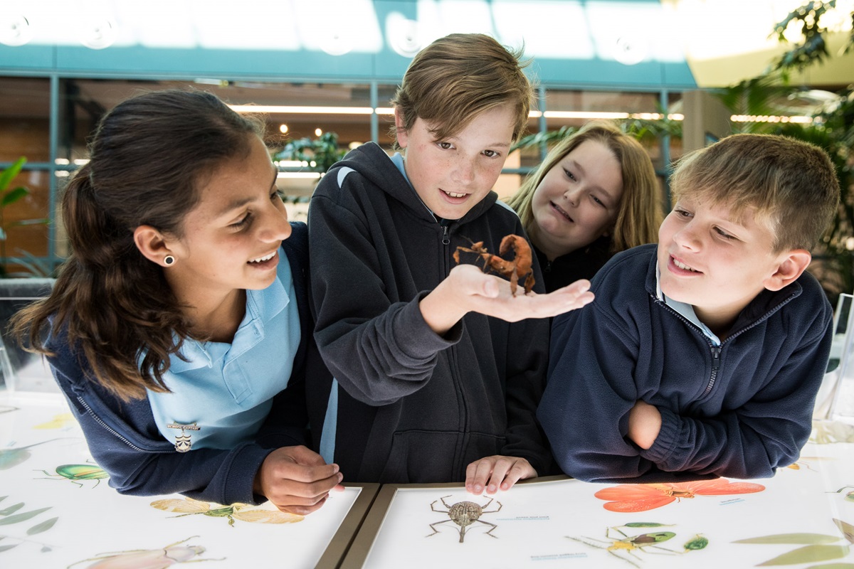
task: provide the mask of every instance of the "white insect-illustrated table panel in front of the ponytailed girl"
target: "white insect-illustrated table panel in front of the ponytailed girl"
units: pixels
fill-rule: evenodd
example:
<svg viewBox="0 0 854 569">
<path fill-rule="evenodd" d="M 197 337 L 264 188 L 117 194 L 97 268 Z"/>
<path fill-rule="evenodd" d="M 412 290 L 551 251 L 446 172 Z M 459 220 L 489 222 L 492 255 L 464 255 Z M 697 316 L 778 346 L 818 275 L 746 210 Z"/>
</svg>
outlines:
<svg viewBox="0 0 854 569">
<path fill-rule="evenodd" d="M 307 516 L 269 502 L 121 495 L 59 394 L 0 404 L 0 567 L 311 569 L 335 566 L 358 526 L 345 529 L 364 487 L 333 492 Z"/>
</svg>

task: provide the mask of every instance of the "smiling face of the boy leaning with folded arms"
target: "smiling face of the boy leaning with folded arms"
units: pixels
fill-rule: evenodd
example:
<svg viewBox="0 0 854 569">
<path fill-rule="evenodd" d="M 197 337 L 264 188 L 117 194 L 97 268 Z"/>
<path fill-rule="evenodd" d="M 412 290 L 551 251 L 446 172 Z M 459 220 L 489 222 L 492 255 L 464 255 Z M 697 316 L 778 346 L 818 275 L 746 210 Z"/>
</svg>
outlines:
<svg viewBox="0 0 854 569">
<path fill-rule="evenodd" d="M 774 276 L 789 252 L 774 253 L 775 235 L 753 214 L 748 208 L 739 219 L 728 206 L 683 198 L 658 231 L 662 292 L 693 305 L 716 333 L 728 329 L 763 288 L 781 287 Z"/>
</svg>

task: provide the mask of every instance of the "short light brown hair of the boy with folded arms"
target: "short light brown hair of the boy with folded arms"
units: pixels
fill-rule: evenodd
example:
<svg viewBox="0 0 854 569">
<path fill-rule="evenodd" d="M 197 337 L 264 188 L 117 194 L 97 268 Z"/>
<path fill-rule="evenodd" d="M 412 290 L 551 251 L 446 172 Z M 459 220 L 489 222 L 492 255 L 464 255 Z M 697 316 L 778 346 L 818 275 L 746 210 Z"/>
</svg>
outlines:
<svg viewBox="0 0 854 569">
<path fill-rule="evenodd" d="M 787 136 L 737 134 L 682 157 L 670 178 L 682 196 L 727 205 L 775 234 L 774 252 L 816 246 L 839 207 L 839 180 L 828 154 Z"/>
</svg>

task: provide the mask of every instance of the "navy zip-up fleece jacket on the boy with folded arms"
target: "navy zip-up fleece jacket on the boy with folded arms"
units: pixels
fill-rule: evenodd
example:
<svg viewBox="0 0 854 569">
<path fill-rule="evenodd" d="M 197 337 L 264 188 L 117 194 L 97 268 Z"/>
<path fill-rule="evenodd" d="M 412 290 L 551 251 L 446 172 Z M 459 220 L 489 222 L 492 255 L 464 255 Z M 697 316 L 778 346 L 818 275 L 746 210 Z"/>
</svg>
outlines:
<svg viewBox="0 0 854 569">
<path fill-rule="evenodd" d="M 586 481 L 765 478 L 798 459 L 828 362 L 833 313 L 804 273 L 759 293 L 722 345 L 658 299 L 656 245 L 619 253 L 596 300 L 553 322 L 537 415 L 565 473 Z M 626 437 L 637 400 L 661 432 Z"/>
</svg>

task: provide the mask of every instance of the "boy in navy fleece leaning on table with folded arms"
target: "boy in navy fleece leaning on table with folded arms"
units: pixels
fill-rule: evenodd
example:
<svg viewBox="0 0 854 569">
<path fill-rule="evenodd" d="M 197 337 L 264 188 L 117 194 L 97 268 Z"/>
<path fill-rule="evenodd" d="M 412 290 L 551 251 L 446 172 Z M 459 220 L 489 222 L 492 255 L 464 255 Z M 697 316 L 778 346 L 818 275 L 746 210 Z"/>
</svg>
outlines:
<svg viewBox="0 0 854 569">
<path fill-rule="evenodd" d="M 810 435 L 831 306 L 804 272 L 839 204 L 820 148 L 734 135 L 688 154 L 658 246 L 555 318 L 537 416 L 587 481 L 772 476 Z"/>
</svg>

